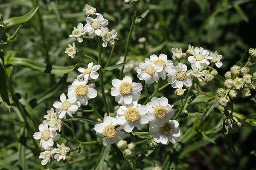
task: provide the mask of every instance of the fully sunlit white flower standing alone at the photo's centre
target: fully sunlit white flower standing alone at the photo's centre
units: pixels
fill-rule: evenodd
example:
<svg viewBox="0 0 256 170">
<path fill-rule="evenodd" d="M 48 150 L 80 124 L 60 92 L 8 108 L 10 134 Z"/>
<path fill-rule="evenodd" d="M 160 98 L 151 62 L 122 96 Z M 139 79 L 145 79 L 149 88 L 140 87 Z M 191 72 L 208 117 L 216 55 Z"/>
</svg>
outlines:
<svg viewBox="0 0 256 170">
<path fill-rule="evenodd" d="M 142 85 L 139 82 L 132 82 L 131 77 L 125 76 L 122 80 L 113 79 L 111 96 L 121 105 L 129 105 L 140 99 Z"/>
</svg>

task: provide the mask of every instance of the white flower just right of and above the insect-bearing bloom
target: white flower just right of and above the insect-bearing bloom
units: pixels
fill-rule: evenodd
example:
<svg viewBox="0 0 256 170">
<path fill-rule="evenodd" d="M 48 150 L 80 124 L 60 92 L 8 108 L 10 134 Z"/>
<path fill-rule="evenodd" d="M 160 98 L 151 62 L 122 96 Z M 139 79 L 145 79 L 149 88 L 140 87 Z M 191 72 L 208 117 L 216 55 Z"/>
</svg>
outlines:
<svg viewBox="0 0 256 170">
<path fill-rule="evenodd" d="M 141 130 L 148 123 L 147 113 L 148 109 L 146 106 L 142 106 L 137 101 L 134 101 L 130 105 L 121 106 L 117 110 L 116 123 L 123 125 L 125 132 L 131 132 L 134 127 Z"/>
</svg>

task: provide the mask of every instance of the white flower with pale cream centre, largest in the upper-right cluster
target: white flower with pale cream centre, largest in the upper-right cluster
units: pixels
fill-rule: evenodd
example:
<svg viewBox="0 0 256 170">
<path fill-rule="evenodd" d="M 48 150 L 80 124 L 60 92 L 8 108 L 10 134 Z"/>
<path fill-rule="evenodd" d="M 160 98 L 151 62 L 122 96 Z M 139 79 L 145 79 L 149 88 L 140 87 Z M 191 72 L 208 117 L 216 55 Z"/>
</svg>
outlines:
<svg viewBox="0 0 256 170">
<path fill-rule="evenodd" d="M 208 59 L 212 59 L 212 57 L 209 56 L 209 51 L 204 50 L 202 47 L 196 47 L 192 54 L 193 56 L 188 57 L 188 61 L 191 63 L 192 68 L 199 68 L 201 66 L 207 68 L 207 65 L 210 64 Z"/>
</svg>

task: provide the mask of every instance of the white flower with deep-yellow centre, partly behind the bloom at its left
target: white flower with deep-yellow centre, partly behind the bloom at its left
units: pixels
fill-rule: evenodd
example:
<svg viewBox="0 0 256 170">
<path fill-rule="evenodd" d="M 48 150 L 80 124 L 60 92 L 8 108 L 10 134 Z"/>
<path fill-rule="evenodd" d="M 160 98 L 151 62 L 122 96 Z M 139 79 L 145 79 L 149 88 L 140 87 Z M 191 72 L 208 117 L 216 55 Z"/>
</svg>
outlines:
<svg viewBox="0 0 256 170">
<path fill-rule="evenodd" d="M 163 71 L 160 71 L 161 78 L 163 80 L 166 79 L 167 71 L 172 68 L 173 63 L 171 60 L 167 59 L 166 54 L 160 54 L 159 57 L 157 55 L 153 54 L 150 56 L 150 60 L 152 61 L 153 65 L 162 65 L 163 66 Z"/>
</svg>

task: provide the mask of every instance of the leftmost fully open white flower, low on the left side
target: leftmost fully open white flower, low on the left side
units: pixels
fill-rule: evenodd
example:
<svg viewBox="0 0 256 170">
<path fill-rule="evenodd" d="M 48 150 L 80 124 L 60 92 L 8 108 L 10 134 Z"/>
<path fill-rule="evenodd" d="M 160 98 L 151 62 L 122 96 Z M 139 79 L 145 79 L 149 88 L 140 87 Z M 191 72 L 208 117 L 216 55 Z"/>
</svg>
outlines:
<svg viewBox="0 0 256 170">
<path fill-rule="evenodd" d="M 35 139 L 41 139 L 39 146 L 43 147 L 46 150 L 50 149 L 50 146 L 53 145 L 53 141 L 60 139 L 60 134 L 56 133 L 54 130 L 49 129 L 47 122 L 43 122 L 38 126 L 40 132 L 35 132 L 33 137 Z"/>
</svg>

